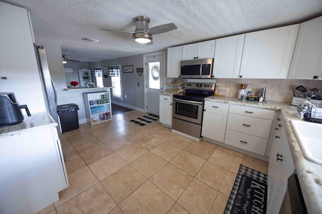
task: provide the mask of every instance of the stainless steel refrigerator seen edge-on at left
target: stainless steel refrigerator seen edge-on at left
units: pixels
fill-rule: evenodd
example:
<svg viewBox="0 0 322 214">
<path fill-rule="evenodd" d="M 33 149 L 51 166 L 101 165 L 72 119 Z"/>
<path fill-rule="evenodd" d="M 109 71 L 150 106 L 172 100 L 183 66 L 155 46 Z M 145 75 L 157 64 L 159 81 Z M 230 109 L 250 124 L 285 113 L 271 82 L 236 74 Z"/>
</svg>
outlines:
<svg viewBox="0 0 322 214">
<path fill-rule="evenodd" d="M 57 114 L 57 93 L 55 90 L 55 84 L 52 81 L 52 78 L 49 73 L 46 51 L 44 46 L 34 45 L 34 47 L 35 47 L 36 59 L 38 64 L 39 76 L 41 79 L 41 85 L 42 85 L 46 110 L 58 124 L 57 132 L 58 132 L 59 140 L 61 141 L 61 127 L 60 127 L 59 117 Z M 65 159 L 63 148 L 61 148 L 61 150 L 63 152 L 63 157 Z"/>
</svg>

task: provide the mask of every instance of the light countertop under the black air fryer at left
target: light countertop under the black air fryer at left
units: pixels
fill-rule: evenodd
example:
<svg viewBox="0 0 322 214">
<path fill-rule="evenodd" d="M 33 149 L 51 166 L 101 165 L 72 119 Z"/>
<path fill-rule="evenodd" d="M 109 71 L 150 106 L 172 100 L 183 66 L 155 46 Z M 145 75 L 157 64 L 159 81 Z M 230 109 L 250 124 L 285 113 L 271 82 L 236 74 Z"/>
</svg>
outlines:
<svg viewBox="0 0 322 214">
<path fill-rule="evenodd" d="M 36 129 L 55 127 L 57 125 L 58 124 L 46 111 L 31 113 L 30 117 L 24 115 L 24 121 L 22 123 L 17 125 L 0 126 L 0 138 L 34 131 Z"/>
</svg>

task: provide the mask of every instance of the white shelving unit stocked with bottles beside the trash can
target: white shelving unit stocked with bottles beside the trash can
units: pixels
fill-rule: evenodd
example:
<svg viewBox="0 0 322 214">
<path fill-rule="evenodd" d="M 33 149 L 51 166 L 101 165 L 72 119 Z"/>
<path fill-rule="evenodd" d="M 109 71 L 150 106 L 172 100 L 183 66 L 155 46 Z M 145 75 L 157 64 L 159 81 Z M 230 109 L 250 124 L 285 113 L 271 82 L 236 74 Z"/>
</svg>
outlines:
<svg viewBox="0 0 322 214">
<path fill-rule="evenodd" d="M 108 91 L 95 91 L 95 92 L 85 92 L 84 101 L 86 108 L 86 116 L 87 122 L 91 123 L 91 125 L 95 125 L 98 123 L 103 123 L 109 120 L 112 120 L 112 107 L 111 107 L 111 95 Z M 101 104 L 90 105 L 90 101 L 102 101 L 102 95 L 105 95 L 107 102 L 103 102 Z M 101 120 L 100 115 L 108 114 L 108 119 Z M 96 121 L 96 122 L 95 122 Z"/>
</svg>

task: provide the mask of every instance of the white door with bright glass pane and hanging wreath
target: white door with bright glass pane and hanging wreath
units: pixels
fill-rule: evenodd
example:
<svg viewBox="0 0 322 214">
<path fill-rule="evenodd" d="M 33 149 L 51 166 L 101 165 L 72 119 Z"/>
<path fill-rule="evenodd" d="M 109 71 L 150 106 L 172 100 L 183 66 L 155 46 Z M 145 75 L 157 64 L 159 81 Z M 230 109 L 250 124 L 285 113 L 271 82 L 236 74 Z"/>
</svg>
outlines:
<svg viewBox="0 0 322 214">
<path fill-rule="evenodd" d="M 165 52 L 144 57 L 145 61 L 145 111 L 159 115 L 159 92 L 163 91 L 165 75 Z"/>
</svg>

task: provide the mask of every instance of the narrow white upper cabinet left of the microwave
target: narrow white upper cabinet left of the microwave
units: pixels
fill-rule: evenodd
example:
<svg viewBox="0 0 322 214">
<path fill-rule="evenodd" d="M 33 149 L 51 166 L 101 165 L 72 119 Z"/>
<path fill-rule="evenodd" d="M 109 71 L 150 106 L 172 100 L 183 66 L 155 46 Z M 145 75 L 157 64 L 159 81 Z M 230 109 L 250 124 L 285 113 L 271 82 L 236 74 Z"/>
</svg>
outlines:
<svg viewBox="0 0 322 214">
<path fill-rule="evenodd" d="M 167 77 L 179 78 L 182 60 L 182 46 L 168 48 L 167 53 Z"/>
</svg>

